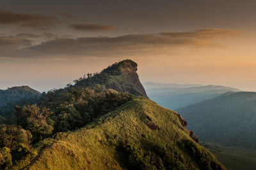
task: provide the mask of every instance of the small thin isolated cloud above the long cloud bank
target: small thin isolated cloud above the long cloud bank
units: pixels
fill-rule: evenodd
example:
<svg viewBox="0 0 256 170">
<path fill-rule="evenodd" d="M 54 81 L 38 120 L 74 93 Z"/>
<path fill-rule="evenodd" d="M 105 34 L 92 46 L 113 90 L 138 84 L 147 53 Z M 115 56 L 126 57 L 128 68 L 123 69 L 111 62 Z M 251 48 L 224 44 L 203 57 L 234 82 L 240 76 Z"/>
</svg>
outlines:
<svg viewBox="0 0 256 170">
<path fill-rule="evenodd" d="M 118 29 L 116 26 L 98 24 L 71 24 L 70 27 L 81 31 L 114 31 Z"/>
</svg>

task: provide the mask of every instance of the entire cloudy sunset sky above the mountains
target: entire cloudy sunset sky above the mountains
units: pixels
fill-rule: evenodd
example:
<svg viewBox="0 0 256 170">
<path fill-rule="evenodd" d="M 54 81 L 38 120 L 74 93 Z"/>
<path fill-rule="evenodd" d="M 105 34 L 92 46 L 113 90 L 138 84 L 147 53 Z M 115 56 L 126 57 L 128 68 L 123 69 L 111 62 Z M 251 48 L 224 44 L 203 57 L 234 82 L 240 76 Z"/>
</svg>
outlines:
<svg viewBox="0 0 256 170">
<path fill-rule="evenodd" d="M 0 89 L 61 88 L 113 62 L 143 82 L 256 91 L 254 0 L 2 0 Z"/>
</svg>

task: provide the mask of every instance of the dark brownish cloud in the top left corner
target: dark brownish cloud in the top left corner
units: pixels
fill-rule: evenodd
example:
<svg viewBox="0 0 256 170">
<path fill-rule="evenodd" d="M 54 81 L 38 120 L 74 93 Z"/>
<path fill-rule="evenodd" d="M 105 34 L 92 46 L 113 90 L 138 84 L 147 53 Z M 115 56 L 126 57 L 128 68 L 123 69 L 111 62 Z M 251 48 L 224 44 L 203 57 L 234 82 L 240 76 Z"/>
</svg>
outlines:
<svg viewBox="0 0 256 170">
<path fill-rule="evenodd" d="M 40 14 L 15 13 L 0 10 L 0 24 L 16 24 L 28 27 L 46 27 L 58 22 L 56 17 Z"/>
</svg>

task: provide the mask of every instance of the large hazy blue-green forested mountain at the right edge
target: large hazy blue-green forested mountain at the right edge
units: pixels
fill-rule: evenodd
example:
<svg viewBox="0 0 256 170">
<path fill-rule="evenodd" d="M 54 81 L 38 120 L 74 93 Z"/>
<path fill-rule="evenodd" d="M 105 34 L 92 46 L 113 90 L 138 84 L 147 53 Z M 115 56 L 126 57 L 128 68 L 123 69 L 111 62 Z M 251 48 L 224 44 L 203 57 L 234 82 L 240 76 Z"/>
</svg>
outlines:
<svg viewBox="0 0 256 170">
<path fill-rule="evenodd" d="M 256 92 L 227 92 L 177 111 L 202 141 L 256 149 Z"/>
</svg>

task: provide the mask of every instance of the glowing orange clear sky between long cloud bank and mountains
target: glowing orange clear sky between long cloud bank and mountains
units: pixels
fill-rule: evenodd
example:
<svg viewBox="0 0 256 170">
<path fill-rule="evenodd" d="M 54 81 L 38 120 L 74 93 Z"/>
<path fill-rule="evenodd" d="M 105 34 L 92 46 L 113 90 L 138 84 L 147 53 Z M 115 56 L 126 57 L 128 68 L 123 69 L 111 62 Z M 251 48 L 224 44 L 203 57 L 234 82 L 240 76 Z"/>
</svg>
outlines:
<svg viewBox="0 0 256 170">
<path fill-rule="evenodd" d="M 252 34 L 242 34 L 218 43 L 221 46 L 179 46 L 163 54 L 132 53 L 131 56 L 86 59 L 6 59 L 0 64 L 0 80 L 3 87 L 30 85 L 41 91 L 49 90 L 62 87 L 85 73 L 101 71 L 113 62 L 129 58 L 138 63 L 138 73 L 144 82 L 227 85 L 255 91 L 256 42 Z"/>
</svg>

